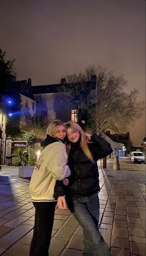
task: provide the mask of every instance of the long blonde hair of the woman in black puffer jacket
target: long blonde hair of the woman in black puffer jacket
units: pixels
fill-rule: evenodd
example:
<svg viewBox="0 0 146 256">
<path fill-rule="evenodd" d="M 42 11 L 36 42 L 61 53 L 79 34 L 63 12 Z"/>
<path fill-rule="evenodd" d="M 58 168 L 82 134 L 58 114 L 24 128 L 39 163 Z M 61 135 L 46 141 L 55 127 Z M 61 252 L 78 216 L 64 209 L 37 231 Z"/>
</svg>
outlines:
<svg viewBox="0 0 146 256">
<path fill-rule="evenodd" d="M 66 129 L 69 128 L 72 131 L 79 131 L 79 133 L 80 133 L 80 147 L 82 148 L 82 150 L 84 151 L 84 153 L 88 157 L 88 159 L 90 159 L 90 161 L 94 162 L 92 153 L 88 149 L 87 136 L 85 135 L 82 128 L 77 123 L 75 123 L 74 121 L 68 121 L 64 125 L 66 126 Z"/>
</svg>

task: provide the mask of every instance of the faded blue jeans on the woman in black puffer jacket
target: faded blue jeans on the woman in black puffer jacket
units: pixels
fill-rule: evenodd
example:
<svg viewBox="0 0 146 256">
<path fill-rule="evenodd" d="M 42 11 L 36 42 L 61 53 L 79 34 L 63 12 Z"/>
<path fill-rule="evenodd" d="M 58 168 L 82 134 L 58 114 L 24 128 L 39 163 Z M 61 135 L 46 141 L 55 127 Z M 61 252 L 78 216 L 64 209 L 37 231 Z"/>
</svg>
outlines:
<svg viewBox="0 0 146 256">
<path fill-rule="evenodd" d="M 99 198 L 91 196 L 73 196 L 74 217 L 82 226 L 84 248 L 82 256 L 110 256 L 108 245 L 98 231 Z"/>
</svg>

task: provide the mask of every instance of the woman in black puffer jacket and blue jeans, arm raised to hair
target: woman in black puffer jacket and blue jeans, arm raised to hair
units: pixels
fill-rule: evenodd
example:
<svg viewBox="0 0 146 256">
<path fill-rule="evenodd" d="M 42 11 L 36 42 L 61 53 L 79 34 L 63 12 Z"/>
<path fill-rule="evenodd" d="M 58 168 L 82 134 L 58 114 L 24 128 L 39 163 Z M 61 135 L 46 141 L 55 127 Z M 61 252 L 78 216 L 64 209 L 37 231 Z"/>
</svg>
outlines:
<svg viewBox="0 0 146 256">
<path fill-rule="evenodd" d="M 109 256 L 110 252 L 98 231 L 100 191 L 97 161 L 111 154 L 113 149 L 105 139 L 84 133 L 75 122 L 66 123 L 69 144 L 69 184 L 57 182 L 54 190 L 59 209 L 68 208 L 79 221 L 84 232 L 82 256 Z M 64 196 L 65 195 L 65 196 Z M 66 201 L 65 201 L 66 198 Z"/>
</svg>

